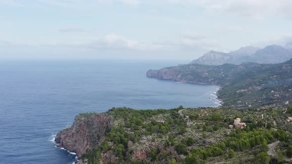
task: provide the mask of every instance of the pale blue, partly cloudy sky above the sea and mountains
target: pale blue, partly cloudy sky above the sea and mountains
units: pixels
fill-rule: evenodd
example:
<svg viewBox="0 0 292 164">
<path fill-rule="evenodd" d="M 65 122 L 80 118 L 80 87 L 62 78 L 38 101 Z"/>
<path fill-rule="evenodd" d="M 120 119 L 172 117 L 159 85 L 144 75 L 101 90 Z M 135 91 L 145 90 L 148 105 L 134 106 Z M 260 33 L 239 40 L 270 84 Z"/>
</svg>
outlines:
<svg viewBox="0 0 292 164">
<path fill-rule="evenodd" d="M 193 60 L 292 41 L 292 0 L 0 0 L 0 59 Z"/>
</svg>

